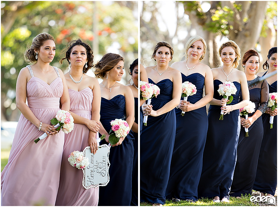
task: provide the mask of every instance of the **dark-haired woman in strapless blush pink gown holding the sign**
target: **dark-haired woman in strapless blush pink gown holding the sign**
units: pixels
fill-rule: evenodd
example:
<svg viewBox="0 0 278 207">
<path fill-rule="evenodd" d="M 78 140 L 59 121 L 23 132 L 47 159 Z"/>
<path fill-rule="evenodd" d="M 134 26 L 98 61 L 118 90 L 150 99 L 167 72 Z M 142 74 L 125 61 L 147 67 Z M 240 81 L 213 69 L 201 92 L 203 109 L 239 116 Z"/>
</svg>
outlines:
<svg viewBox="0 0 278 207">
<path fill-rule="evenodd" d="M 90 146 L 95 154 L 98 149 L 100 87 L 97 79 L 85 74 L 93 66 L 93 57 L 90 46 L 77 39 L 70 42 L 66 57 L 61 60 L 70 63 L 70 72 L 65 73 L 65 79 L 74 129 L 65 135 L 57 206 L 96 206 L 99 201 L 99 188 L 85 189 L 82 170 L 72 167 L 68 161 L 73 151 L 83 151 Z"/>
</svg>

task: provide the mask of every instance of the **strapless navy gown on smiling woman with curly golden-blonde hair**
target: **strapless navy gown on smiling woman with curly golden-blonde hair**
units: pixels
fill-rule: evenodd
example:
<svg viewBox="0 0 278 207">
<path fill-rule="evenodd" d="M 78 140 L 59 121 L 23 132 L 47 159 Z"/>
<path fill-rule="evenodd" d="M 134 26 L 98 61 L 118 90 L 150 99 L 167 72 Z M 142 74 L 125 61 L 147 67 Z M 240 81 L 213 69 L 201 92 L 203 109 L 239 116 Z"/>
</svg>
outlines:
<svg viewBox="0 0 278 207">
<path fill-rule="evenodd" d="M 233 95 L 233 101 L 228 105 L 239 102 L 241 91 L 240 83 L 233 82 L 238 89 Z M 219 80 L 214 80 L 213 98 L 221 100 L 217 90 Z M 213 198 L 219 196 L 229 198 L 229 192 L 234 175 L 234 167 L 237 158 L 238 137 L 240 131 L 239 110 L 233 110 L 225 114 L 223 120 L 219 120 L 221 106 L 210 105 L 208 109 L 208 133 L 203 155 L 203 168 L 198 185 L 198 197 Z"/>
</svg>

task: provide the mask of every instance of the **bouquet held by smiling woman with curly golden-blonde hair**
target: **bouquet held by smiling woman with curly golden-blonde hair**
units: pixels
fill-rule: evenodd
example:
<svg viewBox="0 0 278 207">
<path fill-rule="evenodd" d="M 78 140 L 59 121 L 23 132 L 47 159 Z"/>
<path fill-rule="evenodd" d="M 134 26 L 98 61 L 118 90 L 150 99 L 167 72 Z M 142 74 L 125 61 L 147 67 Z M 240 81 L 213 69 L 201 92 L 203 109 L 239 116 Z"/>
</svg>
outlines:
<svg viewBox="0 0 278 207">
<path fill-rule="evenodd" d="M 235 87 L 234 83 L 230 82 L 230 81 L 226 81 L 223 84 L 219 85 L 219 89 L 217 90 L 217 92 L 223 96 L 223 98 L 225 98 L 226 100 L 229 100 L 228 102 L 226 102 L 224 104 L 224 106 L 226 106 L 226 104 L 229 104 L 233 101 L 234 97 L 232 96 L 232 94 L 236 94 L 237 92 L 237 87 Z M 221 110 L 221 115 L 219 120 L 223 120 L 223 114 L 224 111 Z"/>
</svg>

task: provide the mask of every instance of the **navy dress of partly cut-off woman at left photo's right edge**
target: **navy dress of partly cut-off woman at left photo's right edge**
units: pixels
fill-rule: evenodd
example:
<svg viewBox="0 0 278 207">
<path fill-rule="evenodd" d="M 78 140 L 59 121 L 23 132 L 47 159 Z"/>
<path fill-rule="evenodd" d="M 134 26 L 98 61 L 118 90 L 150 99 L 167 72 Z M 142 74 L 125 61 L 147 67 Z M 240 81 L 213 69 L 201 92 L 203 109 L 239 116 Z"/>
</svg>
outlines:
<svg viewBox="0 0 278 207">
<path fill-rule="evenodd" d="M 135 106 L 135 120 L 134 122 L 138 124 L 138 98 L 134 97 L 134 106 Z M 133 156 L 133 168 L 132 168 L 132 197 L 131 197 L 131 206 L 138 205 L 138 133 L 133 132 L 134 136 L 134 156 Z"/>
</svg>

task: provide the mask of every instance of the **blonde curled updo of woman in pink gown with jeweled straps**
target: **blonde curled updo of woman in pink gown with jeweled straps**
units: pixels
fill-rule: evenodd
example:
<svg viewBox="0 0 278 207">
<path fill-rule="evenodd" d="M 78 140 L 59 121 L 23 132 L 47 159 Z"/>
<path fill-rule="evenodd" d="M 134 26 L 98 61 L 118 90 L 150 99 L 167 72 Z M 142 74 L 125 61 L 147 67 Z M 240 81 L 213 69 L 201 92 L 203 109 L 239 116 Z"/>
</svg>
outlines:
<svg viewBox="0 0 278 207">
<path fill-rule="evenodd" d="M 40 47 L 47 40 L 53 40 L 55 43 L 54 37 L 48 33 L 40 33 L 33 39 L 31 46 L 29 46 L 24 52 L 24 60 L 28 64 L 33 64 L 37 62 L 35 49 L 40 50 Z"/>
</svg>

